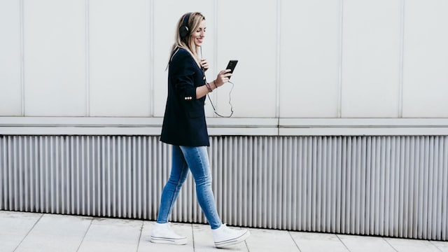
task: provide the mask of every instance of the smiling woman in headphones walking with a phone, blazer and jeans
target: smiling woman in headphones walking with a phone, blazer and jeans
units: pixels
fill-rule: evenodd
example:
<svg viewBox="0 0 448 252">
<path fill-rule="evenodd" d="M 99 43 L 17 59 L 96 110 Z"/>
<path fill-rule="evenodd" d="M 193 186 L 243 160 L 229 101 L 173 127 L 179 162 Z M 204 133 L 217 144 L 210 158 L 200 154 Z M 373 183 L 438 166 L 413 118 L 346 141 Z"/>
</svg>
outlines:
<svg viewBox="0 0 448 252">
<path fill-rule="evenodd" d="M 172 144 L 172 170 L 163 188 L 157 223 L 151 241 L 155 243 L 186 244 L 168 223 L 174 202 L 179 195 L 188 171 L 193 174 L 197 200 L 209 222 L 215 246 L 221 248 L 244 241 L 248 230 L 232 230 L 221 222 L 211 191 L 211 173 L 207 146 L 209 134 L 205 121 L 205 96 L 229 81 L 229 69 L 220 71 L 216 80 L 207 83 L 204 71 L 207 59 L 200 59 L 206 23 L 201 13 L 187 13 L 178 22 L 176 42 L 168 66 L 168 97 L 160 141 Z"/>
</svg>

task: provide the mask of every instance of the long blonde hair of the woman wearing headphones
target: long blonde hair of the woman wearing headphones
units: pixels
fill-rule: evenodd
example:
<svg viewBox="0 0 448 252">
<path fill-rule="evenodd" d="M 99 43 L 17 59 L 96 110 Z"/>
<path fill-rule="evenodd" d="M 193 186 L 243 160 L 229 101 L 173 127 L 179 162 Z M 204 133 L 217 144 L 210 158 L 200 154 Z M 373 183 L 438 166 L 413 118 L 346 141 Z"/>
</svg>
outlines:
<svg viewBox="0 0 448 252">
<path fill-rule="evenodd" d="M 175 42 L 171 48 L 171 52 L 169 53 L 170 55 L 169 62 L 171 61 L 171 58 L 176 48 L 183 48 L 188 52 L 190 52 L 190 54 L 195 59 L 196 63 L 200 65 L 200 48 L 196 46 L 195 41 L 192 39 L 191 34 L 193 34 L 193 32 L 199 29 L 201 22 L 205 20 L 205 17 L 204 15 L 202 15 L 202 13 L 198 12 L 191 13 L 190 18 L 188 18 L 187 21 L 189 34 L 186 36 L 186 38 L 183 39 L 179 34 L 179 28 L 183 25 L 183 19 L 186 17 L 186 15 L 188 15 L 188 13 L 182 15 L 182 17 L 179 19 L 179 22 L 177 22 L 176 36 L 174 36 Z"/>
</svg>

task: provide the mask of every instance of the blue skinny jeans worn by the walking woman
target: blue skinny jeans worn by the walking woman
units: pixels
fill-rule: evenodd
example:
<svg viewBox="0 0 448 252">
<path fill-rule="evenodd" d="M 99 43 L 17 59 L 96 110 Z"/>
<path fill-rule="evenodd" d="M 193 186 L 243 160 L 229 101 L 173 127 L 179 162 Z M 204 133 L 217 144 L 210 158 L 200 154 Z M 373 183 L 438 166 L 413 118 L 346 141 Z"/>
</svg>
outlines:
<svg viewBox="0 0 448 252">
<path fill-rule="evenodd" d="M 216 203 L 211 191 L 211 172 L 207 147 L 173 146 L 172 150 L 171 174 L 162 191 L 157 222 L 168 222 L 174 202 L 176 202 L 190 169 L 195 180 L 197 201 L 211 229 L 219 228 L 222 222 L 218 216 L 218 211 L 216 211 Z"/>
</svg>

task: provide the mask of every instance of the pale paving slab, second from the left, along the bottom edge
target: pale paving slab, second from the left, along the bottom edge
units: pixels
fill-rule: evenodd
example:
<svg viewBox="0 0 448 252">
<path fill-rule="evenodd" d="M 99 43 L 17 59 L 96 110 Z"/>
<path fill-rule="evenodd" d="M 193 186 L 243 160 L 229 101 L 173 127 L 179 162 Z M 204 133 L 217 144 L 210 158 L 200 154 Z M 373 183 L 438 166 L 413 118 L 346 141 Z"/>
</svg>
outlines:
<svg viewBox="0 0 448 252">
<path fill-rule="evenodd" d="M 15 251 L 76 251 L 91 222 L 91 217 L 44 214 Z"/>
</svg>

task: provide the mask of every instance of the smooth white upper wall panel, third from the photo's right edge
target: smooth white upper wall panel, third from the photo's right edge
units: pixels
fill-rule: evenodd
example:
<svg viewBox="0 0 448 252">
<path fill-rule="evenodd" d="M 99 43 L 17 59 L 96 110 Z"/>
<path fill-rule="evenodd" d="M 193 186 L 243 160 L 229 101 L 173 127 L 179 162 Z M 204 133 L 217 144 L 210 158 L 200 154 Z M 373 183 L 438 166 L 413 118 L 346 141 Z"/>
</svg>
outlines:
<svg viewBox="0 0 448 252">
<path fill-rule="evenodd" d="M 281 1 L 280 117 L 338 116 L 339 16 L 339 1 Z"/>
</svg>

